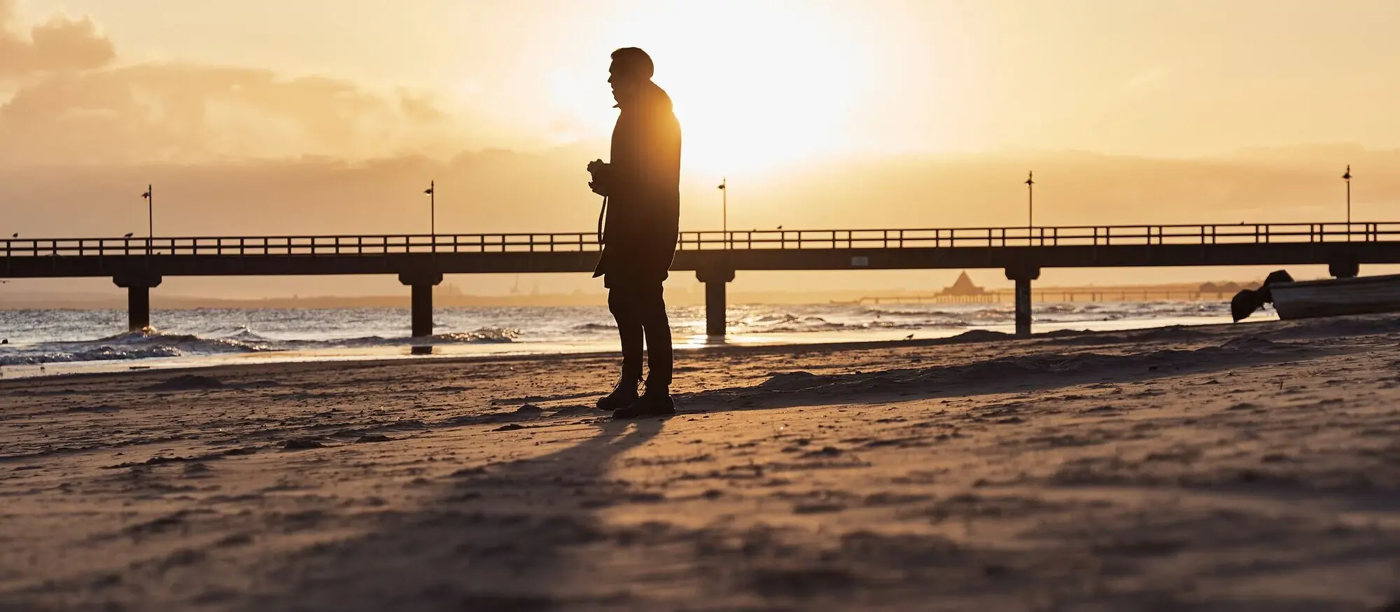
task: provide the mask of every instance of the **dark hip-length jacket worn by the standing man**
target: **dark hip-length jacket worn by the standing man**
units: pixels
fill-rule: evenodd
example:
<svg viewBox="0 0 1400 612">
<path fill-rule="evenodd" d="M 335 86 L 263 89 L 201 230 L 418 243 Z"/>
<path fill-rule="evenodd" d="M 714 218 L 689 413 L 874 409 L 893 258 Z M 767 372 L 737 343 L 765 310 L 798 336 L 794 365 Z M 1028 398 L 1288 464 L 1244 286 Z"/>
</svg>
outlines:
<svg viewBox="0 0 1400 612">
<path fill-rule="evenodd" d="M 619 104 L 608 165 L 603 284 L 659 283 L 676 251 L 680 220 L 680 123 L 671 97 L 647 87 Z M 606 274 L 606 276 L 605 276 Z"/>
</svg>

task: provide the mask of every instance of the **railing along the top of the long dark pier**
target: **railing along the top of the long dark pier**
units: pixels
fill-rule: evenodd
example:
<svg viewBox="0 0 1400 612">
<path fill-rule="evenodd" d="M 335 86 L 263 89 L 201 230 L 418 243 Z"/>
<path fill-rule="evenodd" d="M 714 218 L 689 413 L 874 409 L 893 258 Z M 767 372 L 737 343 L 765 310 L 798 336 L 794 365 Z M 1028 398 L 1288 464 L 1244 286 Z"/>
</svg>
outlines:
<svg viewBox="0 0 1400 612">
<path fill-rule="evenodd" d="M 680 251 L 890 249 L 959 246 L 1116 246 L 1400 241 L 1400 221 L 1212 225 L 959 227 L 897 230 L 683 231 Z M 589 252 L 594 232 L 375 234 L 265 237 L 10 238 L 13 256 L 304 255 Z"/>
</svg>

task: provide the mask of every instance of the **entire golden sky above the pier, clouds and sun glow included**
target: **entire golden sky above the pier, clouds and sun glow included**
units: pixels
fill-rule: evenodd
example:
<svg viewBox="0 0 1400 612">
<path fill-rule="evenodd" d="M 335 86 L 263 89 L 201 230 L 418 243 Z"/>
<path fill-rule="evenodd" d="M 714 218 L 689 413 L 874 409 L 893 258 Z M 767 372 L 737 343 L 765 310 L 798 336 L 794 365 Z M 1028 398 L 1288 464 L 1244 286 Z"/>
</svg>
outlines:
<svg viewBox="0 0 1400 612">
<path fill-rule="evenodd" d="M 358 231 L 417 231 L 377 216 L 402 202 L 346 199 L 321 174 L 287 174 L 308 157 L 381 160 L 356 181 L 378 176 L 384 189 L 438 179 L 452 231 L 578 230 L 594 203 L 561 155 L 606 154 L 608 53 L 623 45 L 652 53 L 676 99 L 683 228 L 715 225 L 711 183 L 725 174 L 735 225 L 1021 223 L 1032 160 L 1047 224 L 1310 218 L 1333 210 L 1334 175 L 1362 148 L 1400 147 L 1394 0 L 0 0 L 0 169 L 11 172 L 0 210 L 27 235 L 129 231 L 139 202 L 115 185 L 148 181 L 164 181 L 178 207 L 162 217 L 169 232 L 311 232 L 328 206 L 377 220 Z M 1235 151 L 1288 146 L 1306 146 L 1306 165 L 1256 151 L 1250 165 L 1277 168 L 1229 169 Z M 456 155 L 487 147 L 538 154 L 501 171 L 531 189 L 501 172 L 470 186 L 444 176 L 470 175 L 461 168 L 475 157 Z M 976 151 L 987 153 L 956 157 Z M 1057 192 L 1056 151 L 1114 157 L 1065 162 L 1075 169 Z M 1172 162 L 1135 157 L 1215 167 L 1173 176 Z M 822 178 L 871 195 L 854 220 L 854 196 L 802 185 L 804 168 L 836 158 L 876 164 L 854 176 L 823 167 Z M 1396 157 L 1368 160 L 1358 206 L 1397 217 Z M 220 183 L 220 202 L 279 207 L 280 225 L 200 193 L 213 189 L 202 176 L 251 161 L 280 169 Z M 78 185 L 21 169 L 34 164 L 106 175 Z M 958 179 L 956 164 L 976 176 Z M 1015 176 L 1002 185 L 995 172 Z M 1270 193 L 1278 176 L 1288 189 Z M 263 188 L 241 192 L 248 183 Z M 1173 209 L 1154 199 L 1162 192 L 1191 203 Z M 518 202 L 477 214 L 482 193 Z"/>
</svg>

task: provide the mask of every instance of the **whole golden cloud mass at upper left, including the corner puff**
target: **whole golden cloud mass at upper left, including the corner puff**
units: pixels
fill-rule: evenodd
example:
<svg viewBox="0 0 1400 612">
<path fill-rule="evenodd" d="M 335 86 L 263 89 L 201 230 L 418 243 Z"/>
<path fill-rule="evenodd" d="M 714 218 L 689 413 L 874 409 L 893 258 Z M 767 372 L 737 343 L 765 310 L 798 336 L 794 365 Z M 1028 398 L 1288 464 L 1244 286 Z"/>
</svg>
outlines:
<svg viewBox="0 0 1400 612">
<path fill-rule="evenodd" d="M 123 64 L 91 18 L 17 34 L 0 0 L 0 162 L 210 162 L 427 154 L 514 144 L 444 98 L 318 76 Z"/>
</svg>

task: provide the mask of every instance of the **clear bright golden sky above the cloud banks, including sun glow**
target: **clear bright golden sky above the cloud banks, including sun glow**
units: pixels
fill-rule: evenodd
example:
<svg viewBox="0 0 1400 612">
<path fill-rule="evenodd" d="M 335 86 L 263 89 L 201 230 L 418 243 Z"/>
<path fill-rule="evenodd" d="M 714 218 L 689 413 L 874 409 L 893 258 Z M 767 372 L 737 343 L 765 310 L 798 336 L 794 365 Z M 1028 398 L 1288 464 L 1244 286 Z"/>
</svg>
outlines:
<svg viewBox="0 0 1400 612">
<path fill-rule="evenodd" d="M 375 92 L 407 88 L 482 132 L 451 143 L 459 148 L 605 134 L 606 53 L 620 45 L 652 52 L 657 80 L 689 119 L 693 161 L 704 165 L 848 150 L 1182 155 L 1400 144 L 1393 0 L 20 0 L 18 8 L 14 31 L 56 11 L 90 15 L 115 45 L 113 66 L 237 66 Z"/>
</svg>

